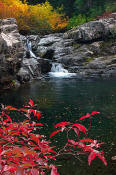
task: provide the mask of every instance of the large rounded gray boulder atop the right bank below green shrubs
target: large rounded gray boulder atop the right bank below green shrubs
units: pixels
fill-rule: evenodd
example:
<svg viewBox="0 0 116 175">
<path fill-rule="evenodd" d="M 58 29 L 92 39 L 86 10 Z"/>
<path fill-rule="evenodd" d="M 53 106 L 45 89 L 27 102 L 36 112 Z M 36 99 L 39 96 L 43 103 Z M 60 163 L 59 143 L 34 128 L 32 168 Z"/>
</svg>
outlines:
<svg viewBox="0 0 116 175">
<path fill-rule="evenodd" d="M 110 33 L 109 28 L 101 21 L 91 21 L 64 34 L 64 38 L 72 38 L 78 42 L 89 42 L 103 39 Z"/>
</svg>

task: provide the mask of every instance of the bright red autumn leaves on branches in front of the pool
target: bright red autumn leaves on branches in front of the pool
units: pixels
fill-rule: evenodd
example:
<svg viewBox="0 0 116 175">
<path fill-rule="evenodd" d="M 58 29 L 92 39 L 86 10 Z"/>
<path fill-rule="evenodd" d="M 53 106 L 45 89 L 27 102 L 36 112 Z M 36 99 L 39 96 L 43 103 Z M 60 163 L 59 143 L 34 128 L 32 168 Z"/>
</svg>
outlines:
<svg viewBox="0 0 116 175">
<path fill-rule="evenodd" d="M 97 140 L 86 138 L 88 130 L 80 123 L 60 122 L 54 126 L 58 128 L 51 133 L 50 138 L 59 132 L 66 132 L 67 142 L 58 152 L 47 141 L 40 129 L 42 123 L 32 121 L 32 116 L 39 120 L 42 117 L 40 111 L 36 110 L 37 105 L 30 99 L 27 106 L 17 109 L 12 106 L 2 105 L 0 114 L 0 174 L 4 175 L 59 175 L 57 167 L 52 162 L 62 154 L 71 154 L 78 157 L 80 154 L 88 155 L 88 164 L 96 157 L 107 165 L 103 151 L 100 150 L 102 143 Z M 10 112 L 18 112 L 24 115 L 23 122 L 13 122 L 9 116 Z M 86 114 L 80 120 L 91 119 L 98 112 Z M 70 131 L 75 133 L 75 139 L 69 136 Z M 80 132 L 84 138 L 80 139 Z"/>
</svg>

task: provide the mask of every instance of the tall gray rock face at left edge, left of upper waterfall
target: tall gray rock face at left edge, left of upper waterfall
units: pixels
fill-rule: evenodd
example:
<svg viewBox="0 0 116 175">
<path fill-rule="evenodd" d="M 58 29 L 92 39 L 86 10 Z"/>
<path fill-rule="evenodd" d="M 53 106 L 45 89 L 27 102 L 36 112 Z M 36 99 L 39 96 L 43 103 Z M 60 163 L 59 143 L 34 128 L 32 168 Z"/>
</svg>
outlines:
<svg viewBox="0 0 116 175">
<path fill-rule="evenodd" d="M 20 69 L 24 48 L 13 18 L 0 20 L 0 85 L 12 84 Z"/>
</svg>

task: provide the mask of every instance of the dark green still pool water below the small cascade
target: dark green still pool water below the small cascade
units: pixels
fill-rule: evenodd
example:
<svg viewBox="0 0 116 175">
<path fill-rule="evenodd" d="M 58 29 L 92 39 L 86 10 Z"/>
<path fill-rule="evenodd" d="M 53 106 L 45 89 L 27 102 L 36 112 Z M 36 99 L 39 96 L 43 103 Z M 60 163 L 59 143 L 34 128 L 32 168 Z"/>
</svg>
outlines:
<svg viewBox="0 0 116 175">
<path fill-rule="evenodd" d="M 46 135 L 60 121 L 74 122 L 87 112 L 99 111 L 100 115 L 92 120 L 89 137 L 105 142 L 102 147 L 108 166 L 105 167 L 101 160 L 96 159 L 89 167 L 86 156 L 81 156 L 81 161 L 67 156 L 58 162 L 63 165 L 60 167 L 61 175 L 116 175 L 116 161 L 111 160 L 116 155 L 116 81 L 47 79 L 0 92 L 0 103 L 15 107 L 21 107 L 29 98 L 39 104 L 43 113 L 41 122 L 49 125 L 44 129 Z M 87 120 L 83 124 L 87 126 Z M 54 144 L 61 145 L 64 140 L 60 136 Z"/>
</svg>

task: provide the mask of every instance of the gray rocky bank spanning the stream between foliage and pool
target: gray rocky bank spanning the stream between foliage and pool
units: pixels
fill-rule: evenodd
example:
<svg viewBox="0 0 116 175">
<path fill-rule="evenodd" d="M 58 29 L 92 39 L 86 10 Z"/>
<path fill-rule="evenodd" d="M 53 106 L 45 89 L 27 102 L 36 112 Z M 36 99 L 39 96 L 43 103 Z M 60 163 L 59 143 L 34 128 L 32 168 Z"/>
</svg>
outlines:
<svg viewBox="0 0 116 175">
<path fill-rule="evenodd" d="M 54 63 L 78 79 L 116 78 L 116 15 L 65 33 L 20 35 L 16 20 L 0 20 L 0 85 L 41 79 Z"/>
</svg>

